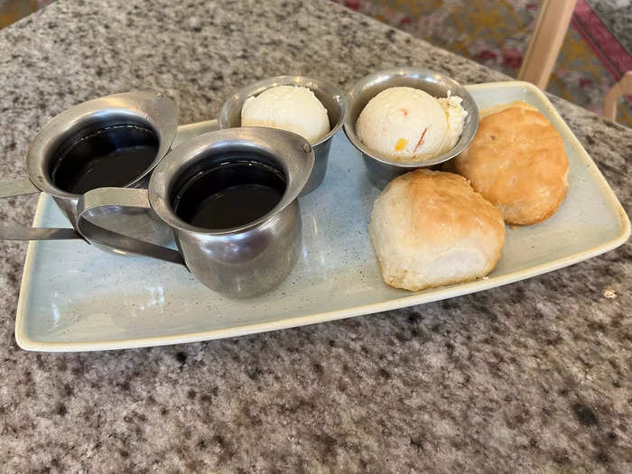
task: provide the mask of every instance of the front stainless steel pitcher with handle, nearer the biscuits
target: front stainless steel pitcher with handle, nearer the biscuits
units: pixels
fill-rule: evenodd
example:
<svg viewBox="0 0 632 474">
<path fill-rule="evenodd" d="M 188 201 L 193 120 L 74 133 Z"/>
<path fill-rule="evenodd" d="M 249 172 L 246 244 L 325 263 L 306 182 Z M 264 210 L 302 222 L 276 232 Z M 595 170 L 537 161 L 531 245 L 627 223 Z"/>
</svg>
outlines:
<svg viewBox="0 0 632 474">
<path fill-rule="evenodd" d="M 200 228 L 178 217 L 174 201 L 185 177 L 229 163 L 231 156 L 243 153 L 283 173 L 285 188 L 274 209 L 236 228 Z M 168 153 L 153 171 L 148 190 L 88 191 L 78 202 L 78 229 L 92 242 L 185 265 L 218 293 L 254 296 L 281 283 L 297 260 L 301 247 L 297 198 L 313 165 L 311 145 L 290 132 L 265 127 L 209 132 Z M 127 237 L 94 223 L 99 213 L 116 214 L 122 209 L 154 212 L 172 229 L 178 250 L 148 242 L 151 236 Z"/>
</svg>

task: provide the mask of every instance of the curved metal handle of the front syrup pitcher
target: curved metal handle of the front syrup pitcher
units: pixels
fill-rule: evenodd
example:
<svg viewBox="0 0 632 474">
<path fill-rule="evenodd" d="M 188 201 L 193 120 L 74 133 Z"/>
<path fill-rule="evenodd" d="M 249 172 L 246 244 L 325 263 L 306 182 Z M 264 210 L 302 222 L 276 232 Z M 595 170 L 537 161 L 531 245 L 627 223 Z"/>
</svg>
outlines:
<svg viewBox="0 0 632 474">
<path fill-rule="evenodd" d="M 147 190 L 135 188 L 98 188 L 81 196 L 77 204 L 77 229 L 91 242 L 118 248 L 138 254 L 151 256 L 172 264 L 184 265 L 180 252 L 166 246 L 157 246 L 135 237 L 128 237 L 102 228 L 88 220 L 93 210 L 103 208 L 151 209 Z"/>
</svg>

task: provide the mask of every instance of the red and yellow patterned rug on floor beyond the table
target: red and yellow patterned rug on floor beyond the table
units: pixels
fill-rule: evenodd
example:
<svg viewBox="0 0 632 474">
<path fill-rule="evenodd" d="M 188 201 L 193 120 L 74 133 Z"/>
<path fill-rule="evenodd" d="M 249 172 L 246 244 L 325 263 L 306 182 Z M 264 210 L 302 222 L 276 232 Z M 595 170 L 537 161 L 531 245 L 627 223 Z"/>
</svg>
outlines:
<svg viewBox="0 0 632 474">
<path fill-rule="evenodd" d="M 534 0 L 334 0 L 441 48 L 516 77 L 534 31 Z M 603 99 L 632 70 L 632 0 L 578 0 L 547 90 L 600 113 Z M 618 122 L 632 127 L 632 101 Z"/>
</svg>

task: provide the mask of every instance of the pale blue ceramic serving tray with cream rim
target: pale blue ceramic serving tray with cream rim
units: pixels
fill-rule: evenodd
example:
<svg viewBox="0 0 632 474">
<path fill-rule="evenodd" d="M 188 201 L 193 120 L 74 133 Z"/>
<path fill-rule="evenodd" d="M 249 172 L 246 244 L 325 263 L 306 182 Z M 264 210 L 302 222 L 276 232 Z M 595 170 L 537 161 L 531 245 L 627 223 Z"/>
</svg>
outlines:
<svg viewBox="0 0 632 474">
<path fill-rule="evenodd" d="M 525 82 L 468 89 L 480 108 L 514 100 L 539 108 L 562 135 L 570 162 L 570 187 L 560 209 L 544 223 L 507 228 L 502 256 L 488 277 L 419 293 L 383 283 L 367 235 L 379 191 L 358 151 L 339 133 L 325 181 L 301 199 L 302 256 L 274 292 L 231 300 L 180 265 L 110 255 L 76 240 L 32 242 L 15 321 L 17 343 L 41 351 L 125 349 L 282 330 L 480 292 L 575 264 L 627 240 L 623 208 L 539 89 Z M 67 223 L 42 195 L 33 225 Z"/>
</svg>

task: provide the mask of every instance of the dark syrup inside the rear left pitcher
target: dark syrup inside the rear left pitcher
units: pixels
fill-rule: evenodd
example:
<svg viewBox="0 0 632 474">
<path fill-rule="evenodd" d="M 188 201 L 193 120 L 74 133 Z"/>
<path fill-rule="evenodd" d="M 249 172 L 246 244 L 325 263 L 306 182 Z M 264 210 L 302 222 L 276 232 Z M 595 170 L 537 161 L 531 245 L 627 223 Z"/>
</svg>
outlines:
<svg viewBox="0 0 632 474">
<path fill-rule="evenodd" d="M 158 148 L 158 136 L 149 128 L 109 126 L 65 148 L 52 161 L 51 179 L 60 190 L 74 194 L 122 187 L 151 166 Z"/>
</svg>

